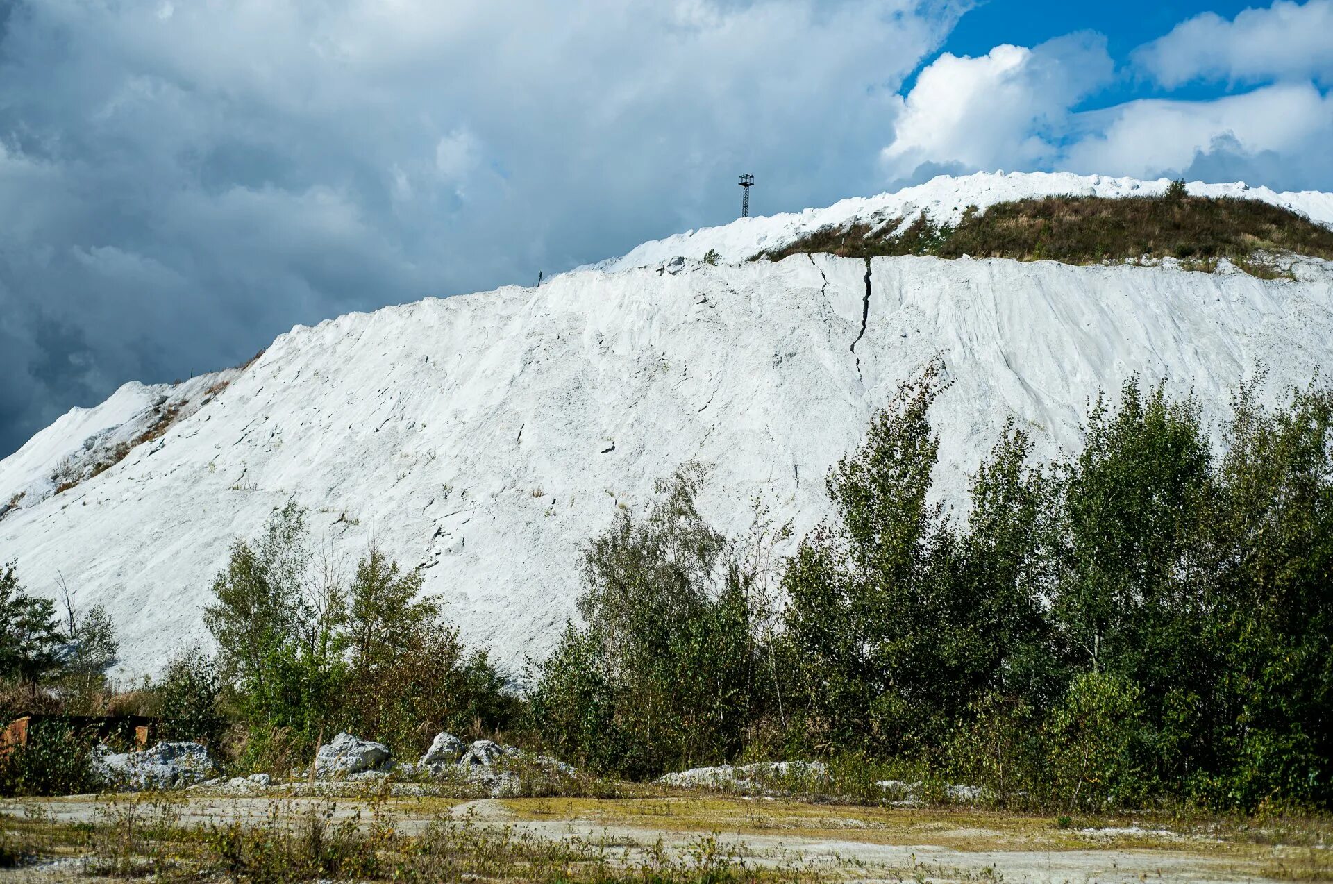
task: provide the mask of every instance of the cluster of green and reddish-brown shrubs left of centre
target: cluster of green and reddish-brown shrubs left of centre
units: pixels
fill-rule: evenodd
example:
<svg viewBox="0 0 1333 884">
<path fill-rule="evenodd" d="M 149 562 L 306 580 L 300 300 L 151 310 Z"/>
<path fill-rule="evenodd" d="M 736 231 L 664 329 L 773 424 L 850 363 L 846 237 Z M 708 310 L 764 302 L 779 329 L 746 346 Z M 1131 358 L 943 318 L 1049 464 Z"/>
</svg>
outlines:
<svg viewBox="0 0 1333 884">
<path fill-rule="evenodd" d="M 344 587 L 339 568 L 311 553 L 295 503 L 275 512 L 256 543 L 237 541 L 204 623 L 221 649 L 225 705 L 247 727 L 243 767 L 301 763 L 321 733 L 339 729 L 412 753 L 440 729 L 481 736 L 500 727 L 515 703 L 507 680 L 484 651 L 463 647 L 439 603 L 420 592 L 421 573 L 400 571 L 377 549 Z M 201 717 L 209 684 L 183 673 L 191 727 L 216 725 Z"/>
</svg>

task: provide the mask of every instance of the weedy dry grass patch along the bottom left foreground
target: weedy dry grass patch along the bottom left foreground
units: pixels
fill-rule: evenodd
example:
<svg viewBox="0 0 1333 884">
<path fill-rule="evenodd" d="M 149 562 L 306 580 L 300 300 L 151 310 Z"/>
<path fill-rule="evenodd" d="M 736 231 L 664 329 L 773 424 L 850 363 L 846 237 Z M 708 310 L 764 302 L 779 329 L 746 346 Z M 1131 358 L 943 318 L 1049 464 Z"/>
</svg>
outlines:
<svg viewBox="0 0 1333 884">
<path fill-rule="evenodd" d="M 423 808 L 416 808 L 419 812 Z M 0 869 L 49 859 L 81 876 L 159 881 L 802 881 L 822 873 L 750 865 L 712 835 L 685 849 L 541 837 L 445 812 L 412 825 L 391 804 L 271 803 L 257 816 L 192 820 L 167 796 L 113 801 L 96 823 L 0 815 Z"/>
</svg>

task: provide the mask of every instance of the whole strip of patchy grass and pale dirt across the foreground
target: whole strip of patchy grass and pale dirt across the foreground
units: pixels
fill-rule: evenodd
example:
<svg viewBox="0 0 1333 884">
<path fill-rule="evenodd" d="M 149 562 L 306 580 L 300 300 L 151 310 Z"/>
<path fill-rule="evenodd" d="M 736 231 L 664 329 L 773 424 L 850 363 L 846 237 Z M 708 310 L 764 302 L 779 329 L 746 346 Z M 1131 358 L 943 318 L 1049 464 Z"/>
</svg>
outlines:
<svg viewBox="0 0 1333 884">
<path fill-rule="evenodd" d="M 0 803 L 0 881 L 1328 880 L 1322 817 L 1060 820 L 627 788 L 623 797 Z"/>
</svg>

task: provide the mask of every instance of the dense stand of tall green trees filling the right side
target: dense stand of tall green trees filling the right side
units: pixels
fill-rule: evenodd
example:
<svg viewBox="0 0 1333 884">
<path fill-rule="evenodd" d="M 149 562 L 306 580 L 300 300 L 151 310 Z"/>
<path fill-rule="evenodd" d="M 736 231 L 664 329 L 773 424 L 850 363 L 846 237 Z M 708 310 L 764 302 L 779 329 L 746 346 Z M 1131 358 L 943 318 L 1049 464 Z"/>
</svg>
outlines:
<svg viewBox="0 0 1333 884">
<path fill-rule="evenodd" d="M 1200 403 L 1130 379 L 1081 451 L 1008 427 L 965 523 L 929 504 L 932 364 L 829 476 L 789 563 L 788 744 L 920 759 L 1001 803 L 1328 805 L 1333 388 Z"/>
</svg>

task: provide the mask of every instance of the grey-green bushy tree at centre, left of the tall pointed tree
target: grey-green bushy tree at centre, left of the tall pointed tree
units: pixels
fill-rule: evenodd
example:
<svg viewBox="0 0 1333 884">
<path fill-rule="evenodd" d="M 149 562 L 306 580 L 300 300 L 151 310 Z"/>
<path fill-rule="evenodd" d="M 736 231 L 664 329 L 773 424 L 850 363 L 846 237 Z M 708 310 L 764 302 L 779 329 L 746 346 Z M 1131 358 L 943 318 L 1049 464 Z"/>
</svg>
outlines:
<svg viewBox="0 0 1333 884">
<path fill-rule="evenodd" d="M 768 711 L 765 591 L 756 545 L 740 549 L 696 508 L 704 468 L 657 483 L 644 519 L 616 516 L 584 552 L 585 591 L 557 651 L 536 669 L 535 728 L 564 757 L 648 776 L 724 760 Z"/>
</svg>

